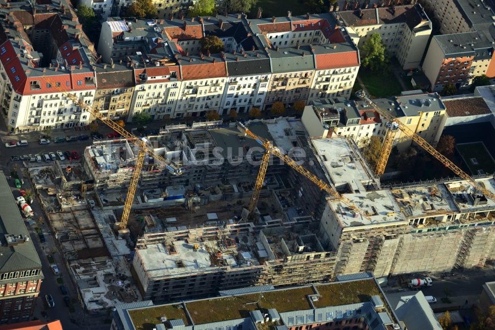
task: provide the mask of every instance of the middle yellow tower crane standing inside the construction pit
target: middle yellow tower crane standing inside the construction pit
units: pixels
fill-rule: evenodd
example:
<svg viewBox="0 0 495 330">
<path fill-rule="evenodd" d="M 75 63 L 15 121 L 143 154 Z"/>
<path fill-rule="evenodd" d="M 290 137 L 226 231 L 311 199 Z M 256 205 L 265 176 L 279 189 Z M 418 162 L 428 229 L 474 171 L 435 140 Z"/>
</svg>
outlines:
<svg viewBox="0 0 495 330">
<path fill-rule="evenodd" d="M 308 171 L 306 168 L 304 168 L 301 165 L 298 165 L 296 161 L 294 161 L 292 158 L 290 158 L 287 155 L 284 155 L 279 148 L 275 147 L 270 143 L 270 141 L 257 136 L 253 132 L 251 132 L 246 125 L 244 125 L 241 122 L 237 122 L 237 128 L 244 133 L 245 135 L 249 135 L 251 138 L 253 138 L 257 143 L 259 143 L 263 148 L 265 148 L 265 153 L 263 154 L 263 157 L 261 159 L 261 164 L 259 166 L 259 171 L 258 171 L 258 176 L 256 177 L 256 183 L 254 185 L 254 191 L 251 196 L 251 200 L 249 202 L 249 213 L 248 213 L 248 218 L 250 218 L 253 215 L 254 209 L 256 208 L 256 204 L 258 202 L 259 194 L 261 192 L 261 188 L 263 187 L 263 181 L 265 179 L 265 174 L 266 174 L 266 169 L 268 168 L 268 161 L 270 159 L 270 155 L 276 156 L 280 158 L 282 161 L 284 161 L 285 164 L 291 166 L 293 169 L 295 169 L 298 173 L 304 175 L 306 178 L 308 178 L 311 182 L 316 184 L 320 189 L 325 190 L 327 193 L 335 197 L 336 200 L 342 201 L 344 204 L 347 205 L 351 210 L 353 210 L 356 213 L 359 213 L 361 216 L 365 217 L 366 219 L 370 220 L 369 215 L 367 212 L 359 209 L 356 207 L 352 202 L 341 195 L 339 192 L 334 190 L 330 185 L 326 184 L 324 181 L 320 180 L 316 175 Z"/>
</svg>

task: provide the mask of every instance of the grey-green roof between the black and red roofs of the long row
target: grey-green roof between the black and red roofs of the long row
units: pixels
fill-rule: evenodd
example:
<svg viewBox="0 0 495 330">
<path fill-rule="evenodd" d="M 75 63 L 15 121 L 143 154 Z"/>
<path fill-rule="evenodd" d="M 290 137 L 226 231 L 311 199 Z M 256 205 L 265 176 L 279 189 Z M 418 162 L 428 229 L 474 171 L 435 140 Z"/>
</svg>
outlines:
<svg viewBox="0 0 495 330">
<path fill-rule="evenodd" d="M 303 56 L 304 55 L 304 56 Z M 272 72 L 291 72 L 294 70 L 314 70 L 316 63 L 309 46 L 297 48 L 281 48 L 271 50 Z"/>
</svg>

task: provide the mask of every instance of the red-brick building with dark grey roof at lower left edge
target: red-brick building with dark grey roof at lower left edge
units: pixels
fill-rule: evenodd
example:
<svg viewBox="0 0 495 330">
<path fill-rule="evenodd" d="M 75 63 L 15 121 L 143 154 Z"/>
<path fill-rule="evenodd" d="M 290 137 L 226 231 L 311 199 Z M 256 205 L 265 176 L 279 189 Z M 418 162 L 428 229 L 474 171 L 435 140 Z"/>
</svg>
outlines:
<svg viewBox="0 0 495 330">
<path fill-rule="evenodd" d="M 41 261 L 3 174 L 0 186 L 0 323 L 28 321 L 44 278 Z"/>
</svg>

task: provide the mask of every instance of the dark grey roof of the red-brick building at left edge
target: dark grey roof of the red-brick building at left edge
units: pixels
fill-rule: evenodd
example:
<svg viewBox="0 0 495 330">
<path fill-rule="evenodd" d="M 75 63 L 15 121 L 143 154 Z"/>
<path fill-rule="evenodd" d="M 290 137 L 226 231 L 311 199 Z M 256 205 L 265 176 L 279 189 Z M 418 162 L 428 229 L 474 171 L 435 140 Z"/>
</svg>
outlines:
<svg viewBox="0 0 495 330">
<path fill-rule="evenodd" d="M 29 237 L 29 232 L 3 173 L 0 173 L 0 200 L 2 201 L 0 210 L 0 240 L 2 242 L 0 272 L 41 269 L 40 257 L 31 240 L 16 246 L 7 246 L 6 244 L 5 235 Z"/>
</svg>

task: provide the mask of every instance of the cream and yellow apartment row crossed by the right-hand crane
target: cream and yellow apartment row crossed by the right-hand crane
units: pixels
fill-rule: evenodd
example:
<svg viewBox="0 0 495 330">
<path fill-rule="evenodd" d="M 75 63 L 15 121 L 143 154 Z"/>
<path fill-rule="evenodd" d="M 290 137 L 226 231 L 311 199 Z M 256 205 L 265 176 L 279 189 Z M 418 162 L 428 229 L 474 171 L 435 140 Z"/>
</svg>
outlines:
<svg viewBox="0 0 495 330">
<path fill-rule="evenodd" d="M 439 132 L 442 132 L 446 106 L 437 93 L 423 94 L 416 91 L 373 101 L 429 143 L 434 142 Z M 302 123 L 310 136 L 350 137 L 358 146 L 361 146 L 361 139 L 366 137 L 378 136 L 383 141 L 388 131 L 387 122 L 382 120 L 375 109 L 363 101 L 344 99 L 312 101 L 304 109 Z M 399 131 L 394 143 L 399 151 L 403 151 L 411 145 L 412 140 Z"/>
</svg>

